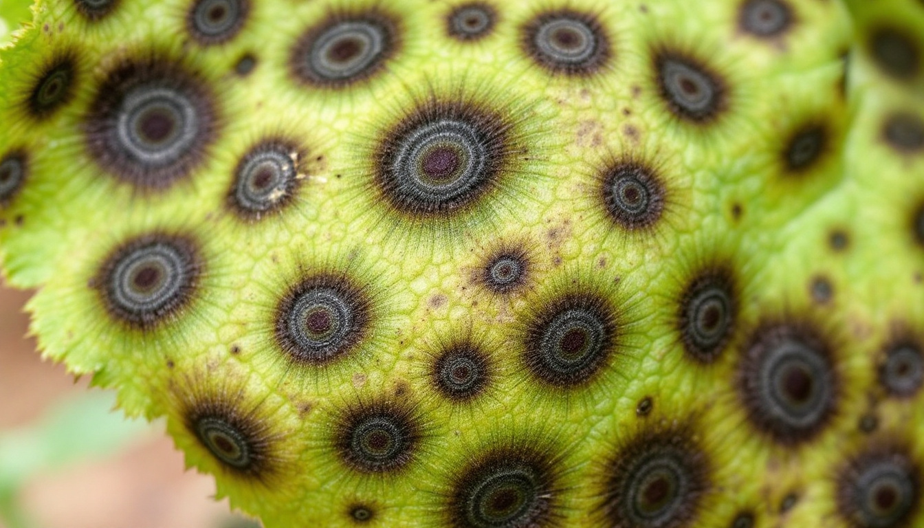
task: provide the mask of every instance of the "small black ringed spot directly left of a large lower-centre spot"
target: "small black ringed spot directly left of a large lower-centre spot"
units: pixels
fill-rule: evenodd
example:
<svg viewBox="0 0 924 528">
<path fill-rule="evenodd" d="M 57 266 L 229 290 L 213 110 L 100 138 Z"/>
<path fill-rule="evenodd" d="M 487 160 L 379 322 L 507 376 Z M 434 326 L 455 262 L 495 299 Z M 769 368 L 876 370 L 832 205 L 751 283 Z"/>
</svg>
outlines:
<svg viewBox="0 0 924 528">
<path fill-rule="evenodd" d="M 487 387 L 489 368 L 484 352 L 474 346 L 449 347 L 433 363 L 433 385 L 448 399 L 472 399 Z"/>
</svg>

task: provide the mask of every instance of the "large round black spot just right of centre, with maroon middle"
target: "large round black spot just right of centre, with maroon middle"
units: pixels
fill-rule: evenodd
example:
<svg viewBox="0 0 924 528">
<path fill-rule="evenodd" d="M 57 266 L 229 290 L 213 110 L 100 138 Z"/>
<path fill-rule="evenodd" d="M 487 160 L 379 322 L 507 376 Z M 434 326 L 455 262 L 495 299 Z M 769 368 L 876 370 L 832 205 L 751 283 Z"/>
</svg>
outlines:
<svg viewBox="0 0 924 528">
<path fill-rule="evenodd" d="M 526 324 L 523 362 L 530 374 L 563 388 L 585 385 L 617 353 L 617 314 L 596 293 L 559 296 Z"/>
</svg>

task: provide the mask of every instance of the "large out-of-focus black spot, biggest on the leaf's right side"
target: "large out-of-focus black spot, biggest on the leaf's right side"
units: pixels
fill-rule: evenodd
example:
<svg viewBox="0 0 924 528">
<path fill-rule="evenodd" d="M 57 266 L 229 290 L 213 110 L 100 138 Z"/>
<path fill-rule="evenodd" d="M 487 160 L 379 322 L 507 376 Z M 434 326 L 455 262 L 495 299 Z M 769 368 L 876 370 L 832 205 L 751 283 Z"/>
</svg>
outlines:
<svg viewBox="0 0 924 528">
<path fill-rule="evenodd" d="M 821 432 L 838 402 L 830 345 L 810 325 L 760 325 L 737 367 L 738 392 L 748 420 L 784 445 Z"/>
</svg>

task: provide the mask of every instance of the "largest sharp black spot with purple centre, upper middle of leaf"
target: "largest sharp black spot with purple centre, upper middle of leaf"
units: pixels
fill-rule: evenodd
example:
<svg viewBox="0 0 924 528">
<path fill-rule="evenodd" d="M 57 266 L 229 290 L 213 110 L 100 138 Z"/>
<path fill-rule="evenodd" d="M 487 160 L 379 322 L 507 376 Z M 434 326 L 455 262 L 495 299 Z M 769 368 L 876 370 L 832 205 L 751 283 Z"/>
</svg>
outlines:
<svg viewBox="0 0 924 528">
<path fill-rule="evenodd" d="M 374 185 L 416 218 L 453 215 L 500 184 L 508 158 L 503 119 L 470 104 L 430 102 L 383 130 Z"/>
</svg>

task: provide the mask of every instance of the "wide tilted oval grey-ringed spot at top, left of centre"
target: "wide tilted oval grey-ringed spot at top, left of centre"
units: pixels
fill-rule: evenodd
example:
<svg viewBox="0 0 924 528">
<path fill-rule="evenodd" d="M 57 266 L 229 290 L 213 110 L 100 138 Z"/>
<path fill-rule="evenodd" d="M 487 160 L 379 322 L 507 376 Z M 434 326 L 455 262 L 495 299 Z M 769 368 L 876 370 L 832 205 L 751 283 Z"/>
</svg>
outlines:
<svg viewBox="0 0 924 528">
<path fill-rule="evenodd" d="M 342 88 L 383 69 L 399 45 L 397 22 L 382 12 L 334 15 L 298 38 L 289 68 L 301 82 Z"/>
</svg>

